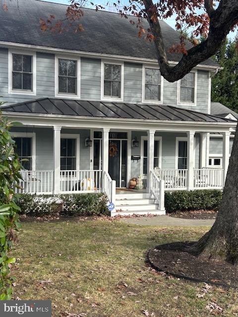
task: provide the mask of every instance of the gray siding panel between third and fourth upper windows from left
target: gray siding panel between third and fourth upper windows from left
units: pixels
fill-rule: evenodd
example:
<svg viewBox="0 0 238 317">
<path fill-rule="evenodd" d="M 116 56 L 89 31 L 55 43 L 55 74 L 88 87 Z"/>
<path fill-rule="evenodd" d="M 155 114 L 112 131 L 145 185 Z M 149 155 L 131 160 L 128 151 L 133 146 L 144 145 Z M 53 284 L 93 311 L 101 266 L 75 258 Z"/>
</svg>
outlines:
<svg viewBox="0 0 238 317">
<path fill-rule="evenodd" d="M 124 63 L 124 102 L 142 101 L 142 64 Z"/>
</svg>

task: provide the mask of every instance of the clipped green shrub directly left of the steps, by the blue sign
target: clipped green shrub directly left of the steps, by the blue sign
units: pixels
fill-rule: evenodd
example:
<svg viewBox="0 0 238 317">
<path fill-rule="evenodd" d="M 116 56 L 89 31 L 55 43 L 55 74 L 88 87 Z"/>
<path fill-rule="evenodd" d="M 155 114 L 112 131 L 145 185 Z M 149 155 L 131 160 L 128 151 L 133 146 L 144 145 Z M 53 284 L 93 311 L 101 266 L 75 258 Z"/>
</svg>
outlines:
<svg viewBox="0 0 238 317">
<path fill-rule="evenodd" d="M 98 215 L 108 214 L 108 198 L 105 194 L 65 194 L 60 195 L 62 211 L 73 215 Z"/>
</svg>

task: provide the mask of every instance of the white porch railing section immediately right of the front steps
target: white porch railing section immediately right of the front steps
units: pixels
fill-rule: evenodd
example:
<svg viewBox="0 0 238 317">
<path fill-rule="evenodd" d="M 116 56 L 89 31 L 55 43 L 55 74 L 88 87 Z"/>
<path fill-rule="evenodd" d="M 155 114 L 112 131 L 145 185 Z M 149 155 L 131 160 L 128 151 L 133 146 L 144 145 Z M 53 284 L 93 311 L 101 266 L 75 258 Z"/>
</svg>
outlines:
<svg viewBox="0 0 238 317">
<path fill-rule="evenodd" d="M 154 172 L 165 181 L 165 189 L 187 189 L 187 169 L 155 169 Z"/>
</svg>

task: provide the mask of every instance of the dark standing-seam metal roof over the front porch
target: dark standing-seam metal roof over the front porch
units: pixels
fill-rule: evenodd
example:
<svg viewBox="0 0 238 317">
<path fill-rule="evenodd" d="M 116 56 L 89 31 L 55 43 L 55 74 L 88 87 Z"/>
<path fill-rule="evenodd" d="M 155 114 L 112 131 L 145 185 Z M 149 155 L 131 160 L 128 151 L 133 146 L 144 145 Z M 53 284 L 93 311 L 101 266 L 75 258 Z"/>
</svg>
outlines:
<svg viewBox="0 0 238 317">
<path fill-rule="evenodd" d="M 234 122 L 230 119 L 193 110 L 185 110 L 174 106 L 137 105 L 71 99 L 42 98 L 11 106 L 3 106 L 1 109 L 9 112 L 60 114 L 101 118 Z"/>
</svg>

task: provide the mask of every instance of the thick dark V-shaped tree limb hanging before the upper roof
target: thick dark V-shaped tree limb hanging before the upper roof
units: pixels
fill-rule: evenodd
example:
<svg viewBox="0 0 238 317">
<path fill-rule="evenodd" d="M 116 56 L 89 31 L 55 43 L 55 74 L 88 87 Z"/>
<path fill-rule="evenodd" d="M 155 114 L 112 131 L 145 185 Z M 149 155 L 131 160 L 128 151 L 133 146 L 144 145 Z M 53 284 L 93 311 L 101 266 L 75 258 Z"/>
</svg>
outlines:
<svg viewBox="0 0 238 317">
<path fill-rule="evenodd" d="M 159 20 L 153 14 L 155 7 L 152 0 L 143 0 L 148 21 L 155 37 L 155 49 L 162 76 L 169 82 L 184 77 L 193 67 L 214 55 L 220 48 L 228 33 L 238 23 L 238 1 L 222 0 L 210 17 L 209 34 L 206 41 L 189 49 L 183 54 L 176 66 L 170 66 L 163 42 Z M 206 1 L 208 2 L 208 1 Z M 211 2 L 211 1 L 209 1 Z"/>
</svg>

